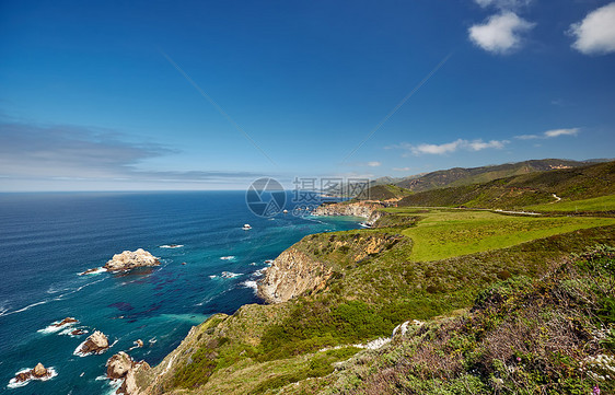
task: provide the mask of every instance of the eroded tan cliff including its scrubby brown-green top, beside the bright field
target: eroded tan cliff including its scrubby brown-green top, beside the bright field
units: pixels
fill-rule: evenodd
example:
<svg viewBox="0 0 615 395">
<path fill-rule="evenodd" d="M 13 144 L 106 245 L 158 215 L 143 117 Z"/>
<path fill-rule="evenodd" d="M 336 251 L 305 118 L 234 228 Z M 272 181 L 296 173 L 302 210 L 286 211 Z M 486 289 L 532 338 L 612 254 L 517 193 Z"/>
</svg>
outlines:
<svg viewBox="0 0 615 395">
<path fill-rule="evenodd" d="M 258 282 L 267 303 L 282 303 L 310 291 L 320 291 L 344 267 L 385 248 L 403 236 L 388 233 L 321 233 L 305 236 L 280 254 Z"/>
</svg>

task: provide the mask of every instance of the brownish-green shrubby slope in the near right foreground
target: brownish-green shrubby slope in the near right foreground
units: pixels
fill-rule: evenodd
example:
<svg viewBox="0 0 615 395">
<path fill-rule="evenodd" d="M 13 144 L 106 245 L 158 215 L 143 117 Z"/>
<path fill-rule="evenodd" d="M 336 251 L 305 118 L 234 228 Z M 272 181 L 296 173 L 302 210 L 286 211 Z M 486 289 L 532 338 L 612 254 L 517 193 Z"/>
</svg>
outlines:
<svg viewBox="0 0 615 395">
<path fill-rule="evenodd" d="M 411 328 L 282 393 L 613 394 L 614 283 L 615 249 L 596 248 L 541 279 L 499 282 L 471 313 Z"/>
</svg>

